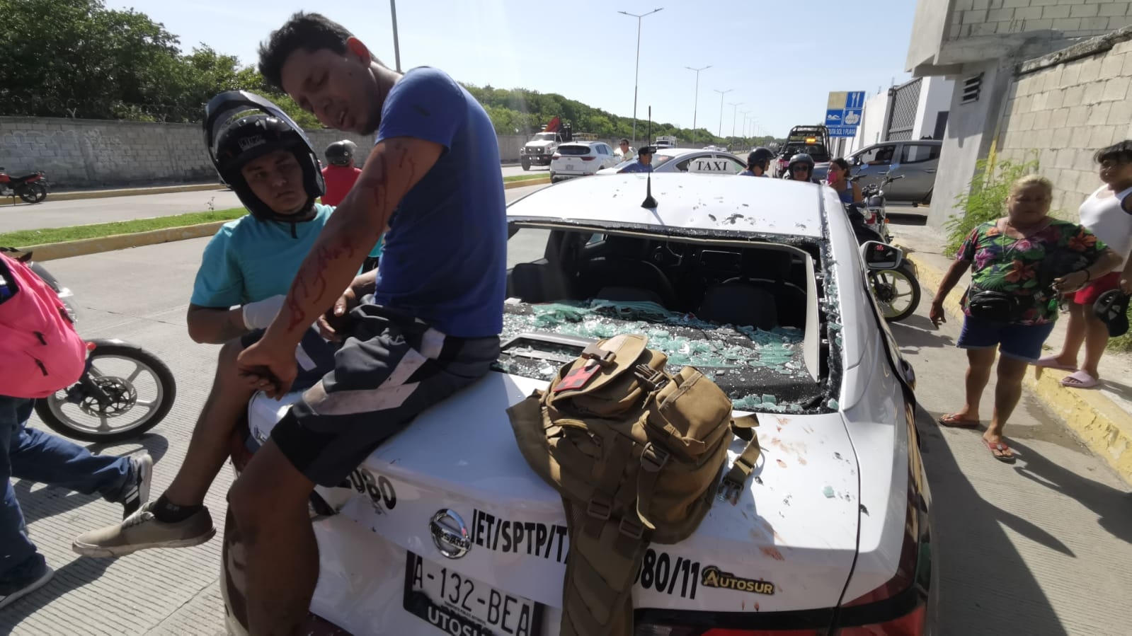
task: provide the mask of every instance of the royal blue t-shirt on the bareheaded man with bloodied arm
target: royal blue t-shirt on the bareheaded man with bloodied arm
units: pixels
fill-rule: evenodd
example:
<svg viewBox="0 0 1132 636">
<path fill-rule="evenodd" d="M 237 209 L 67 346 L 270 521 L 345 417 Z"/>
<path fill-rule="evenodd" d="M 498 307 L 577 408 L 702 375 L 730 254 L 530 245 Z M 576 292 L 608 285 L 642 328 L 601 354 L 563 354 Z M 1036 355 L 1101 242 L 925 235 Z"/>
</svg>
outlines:
<svg viewBox="0 0 1132 636">
<path fill-rule="evenodd" d="M 374 302 L 449 336 L 499 335 L 507 212 L 491 120 L 445 72 L 420 67 L 393 85 L 381 108 L 377 143 L 394 137 L 445 149 L 393 213 Z"/>
</svg>

